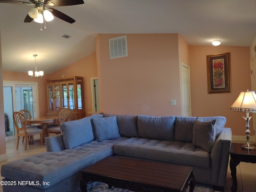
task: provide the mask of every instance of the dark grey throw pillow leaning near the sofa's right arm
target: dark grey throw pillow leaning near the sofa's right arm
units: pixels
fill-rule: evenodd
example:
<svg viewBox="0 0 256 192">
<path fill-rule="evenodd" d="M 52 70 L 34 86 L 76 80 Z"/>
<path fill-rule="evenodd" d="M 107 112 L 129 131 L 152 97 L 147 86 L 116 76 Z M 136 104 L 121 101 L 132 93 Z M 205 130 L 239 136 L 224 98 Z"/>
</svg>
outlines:
<svg viewBox="0 0 256 192">
<path fill-rule="evenodd" d="M 215 119 L 203 121 L 200 118 L 196 118 L 193 128 L 192 144 L 210 152 L 215 142 L 215 122 Z"/>
</svg>

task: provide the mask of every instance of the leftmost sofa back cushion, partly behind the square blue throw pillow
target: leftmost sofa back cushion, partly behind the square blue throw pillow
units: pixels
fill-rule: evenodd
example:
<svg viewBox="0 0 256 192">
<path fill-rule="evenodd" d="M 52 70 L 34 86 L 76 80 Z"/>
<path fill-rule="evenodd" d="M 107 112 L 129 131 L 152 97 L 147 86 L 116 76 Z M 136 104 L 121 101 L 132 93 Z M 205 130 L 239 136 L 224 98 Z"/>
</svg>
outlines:
<svg viewBox="0 0 256 192">
<path fill-rule="evenodd" d="M 138 116 L 104 114 L 104 117 L 116 116 L 119 133 L 122 137 L 138 137 Z"/>
</svg>

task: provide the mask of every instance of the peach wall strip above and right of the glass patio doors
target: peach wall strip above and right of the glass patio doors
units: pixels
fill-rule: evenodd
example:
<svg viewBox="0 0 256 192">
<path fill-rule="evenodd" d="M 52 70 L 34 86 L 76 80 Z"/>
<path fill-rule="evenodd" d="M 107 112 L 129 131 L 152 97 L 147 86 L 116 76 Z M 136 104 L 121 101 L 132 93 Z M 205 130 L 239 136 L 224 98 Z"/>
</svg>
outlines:
<svg viewBox="0 0 256 192">
<path fill-rule="evenodd" d="M 37 82 L 38 83 L 38 102 L 39 102 L 39 116 L 46 116 L 47 104 L 46 104 L 46 78 L 48 75 L 44 75 L 42 78 L 30 78 L 27 73 L 24 72 L 12 72 L 3 71 L 4 81 L 16 81 L 16 82 Z"/>
</svg>

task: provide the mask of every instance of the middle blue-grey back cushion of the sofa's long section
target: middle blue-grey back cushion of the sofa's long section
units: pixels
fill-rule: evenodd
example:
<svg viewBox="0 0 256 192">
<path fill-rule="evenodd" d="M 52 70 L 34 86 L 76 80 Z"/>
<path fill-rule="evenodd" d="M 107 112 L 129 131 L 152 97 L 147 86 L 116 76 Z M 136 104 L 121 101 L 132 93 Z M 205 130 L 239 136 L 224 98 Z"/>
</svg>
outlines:
<svg viewBox="0 0 256 192">
<path fill-rule="evenodd" d="M 142 138 L 174 141 L 174 116 L 138 116 L 138 131 Z"/>
</svg>

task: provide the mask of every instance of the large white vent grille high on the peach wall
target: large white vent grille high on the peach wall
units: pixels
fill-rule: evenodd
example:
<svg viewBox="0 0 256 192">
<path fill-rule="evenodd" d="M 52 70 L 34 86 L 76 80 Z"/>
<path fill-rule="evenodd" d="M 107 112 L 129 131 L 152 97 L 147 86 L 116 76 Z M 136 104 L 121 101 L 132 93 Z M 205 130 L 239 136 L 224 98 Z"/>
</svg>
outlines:
<svg viewBox="0 0 256 192">
<path fill-rule="evenodd" d="M 126 35 L 109 39 L 110 59 L 127 56 Z"/>
</svg>

